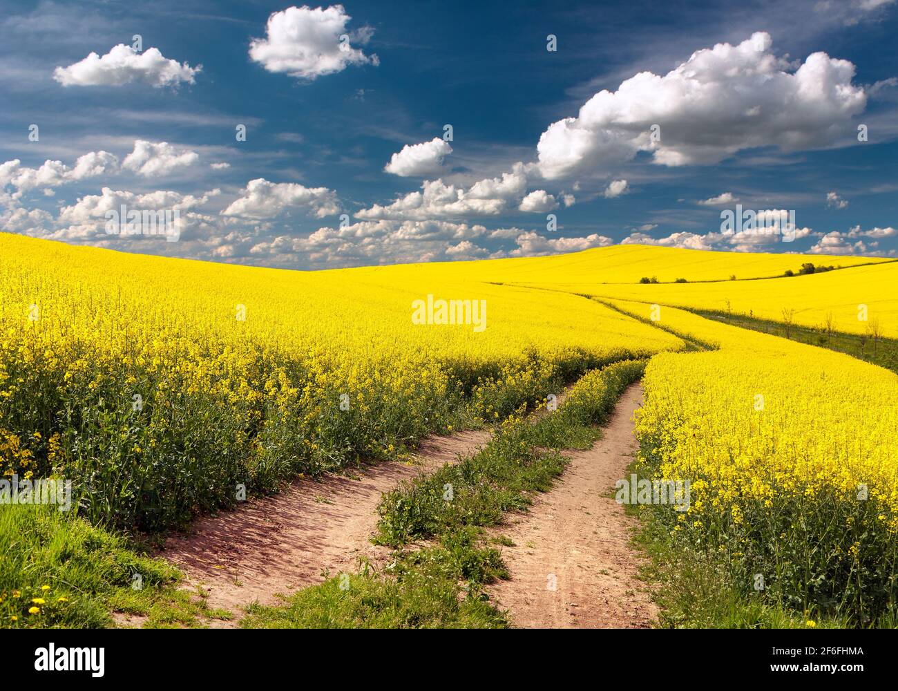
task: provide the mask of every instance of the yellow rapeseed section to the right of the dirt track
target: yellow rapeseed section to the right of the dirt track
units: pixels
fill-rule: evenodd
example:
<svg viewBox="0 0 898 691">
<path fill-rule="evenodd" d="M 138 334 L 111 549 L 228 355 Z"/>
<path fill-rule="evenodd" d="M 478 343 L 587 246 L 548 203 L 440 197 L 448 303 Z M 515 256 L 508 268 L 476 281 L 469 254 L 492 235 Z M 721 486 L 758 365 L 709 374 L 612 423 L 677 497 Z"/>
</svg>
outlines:
<svg viewBox="0 0 898 691">
<path fill-rule="evenodd" d="M 672 529 L 799 611 L 894 613 L 898 376 L 672 307 L 610 304 L 715 349 L 657 355 L 644 378 L 647 465 L 691 483 Z"/>
</svg>

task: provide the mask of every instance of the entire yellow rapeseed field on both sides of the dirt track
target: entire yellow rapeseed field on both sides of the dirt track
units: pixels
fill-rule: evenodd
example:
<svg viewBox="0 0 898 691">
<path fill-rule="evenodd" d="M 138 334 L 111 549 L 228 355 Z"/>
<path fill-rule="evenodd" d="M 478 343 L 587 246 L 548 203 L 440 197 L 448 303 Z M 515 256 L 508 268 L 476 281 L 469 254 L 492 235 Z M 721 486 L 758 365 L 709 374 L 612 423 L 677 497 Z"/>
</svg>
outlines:
<svg viewBox="0 0 898 691">
<path fill-rule="evenodd" d="M 178 526 L 650 358 L 640 463 L 690 483 L 688 510 L 662 514 L 672 538 L 748 593 L 760 578 L 794 611 L 881 622 L 898 589 L 898 377 L 675 307 L 863 332 L 865 305 L 898 333 L 898 264 L 764 278 L 804 261 L 820 258 L 629 245 L 305 272 L 0 234 L 0 475 L 72 479 L 95 522 Z"/>
</svg>

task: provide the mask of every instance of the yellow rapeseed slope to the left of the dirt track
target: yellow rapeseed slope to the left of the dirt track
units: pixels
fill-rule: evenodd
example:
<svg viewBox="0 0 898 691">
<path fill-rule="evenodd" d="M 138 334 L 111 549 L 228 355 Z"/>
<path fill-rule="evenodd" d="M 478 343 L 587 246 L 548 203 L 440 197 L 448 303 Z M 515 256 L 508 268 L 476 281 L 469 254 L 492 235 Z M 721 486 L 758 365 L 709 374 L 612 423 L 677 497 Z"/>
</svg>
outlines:
<svg viewBox="0 0 898 691">
<path fill-rule="evenodd" d="M 439 323 L 444 300 L 471 301 L 468 323 Z M 183 522 L 238 484 L 396 456 L 680 345 L 582 297 L 439 272 L 254 269 L 0 234 L 0 430 L 27 472 L 80 479 L 84 512 L 126 527 Z"/>
</svg>

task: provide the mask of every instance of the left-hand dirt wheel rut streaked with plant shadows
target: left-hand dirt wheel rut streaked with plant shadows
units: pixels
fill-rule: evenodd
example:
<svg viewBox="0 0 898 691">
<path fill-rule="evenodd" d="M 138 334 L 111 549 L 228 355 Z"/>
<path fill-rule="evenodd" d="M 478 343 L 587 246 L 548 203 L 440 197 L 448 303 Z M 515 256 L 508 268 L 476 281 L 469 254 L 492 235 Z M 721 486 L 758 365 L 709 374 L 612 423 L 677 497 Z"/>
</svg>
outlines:
<svg viewBox="0 0 898 691">
<path fill-rule="evenodd" d="M 358 557 L 374 563 L 388 554 L 368 541 L 381 494 L 473 453 L 488 439 L 477 431 L 432 437 L 422 442 L 412 464 L 382 463 L 354 470 L 354 476 L 298 480 L 274 496 L 199 518 L 189 534 L 170 536 L 160 556 L 187 574 L 190 587 L 208 593 L 209 607 L 234 613 L 231 622 L 209 625 L 236 625 L 242 606 L 270 604 L 276 593 L 321 582 L 324 570 L 332 576 L 356 571 Z"/>
</svg>

